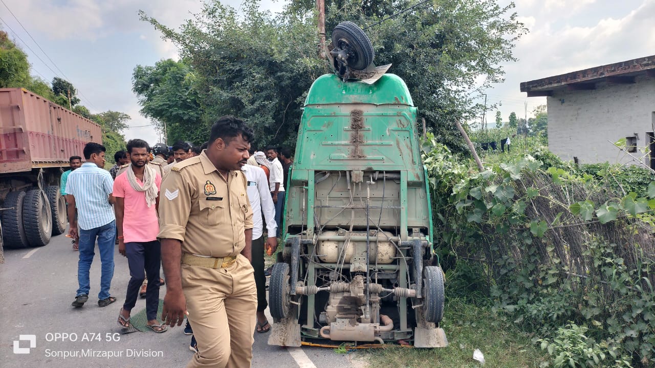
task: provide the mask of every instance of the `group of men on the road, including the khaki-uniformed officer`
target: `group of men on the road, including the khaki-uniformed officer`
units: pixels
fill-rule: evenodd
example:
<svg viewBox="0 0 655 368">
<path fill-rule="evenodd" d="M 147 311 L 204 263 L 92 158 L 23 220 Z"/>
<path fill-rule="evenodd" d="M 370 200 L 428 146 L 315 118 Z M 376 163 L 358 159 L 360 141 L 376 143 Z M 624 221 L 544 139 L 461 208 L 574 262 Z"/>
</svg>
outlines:
<svg viewBox="0 0 655 368">
<path fill-rule="evenodd" d="M 264 253 L 278 247 L 287 176 L 287 148 L 254 151 L 252 130 L 233 116 L 212 125 L 200 146 L 154 146 L 132 139 L 105 170 L 105 147 L 84 146 L 84 163 L 70 158 L 62 175 L 69 237 L 79 251 L 73 307 L 90 292 L 96 242 L 102 263 L 98 306 L 117 301 L 109 288 L 115 244 L 128 261 L 130 280 L 117 324 L 128 331 L 138 297 L 145 297 L 147 327 L 176 324 L 193 335 L 187 367 L 250 367 L 253 332 L 271 329 Z M 265 224 L 265 226 L 264 226 Z M 157 318 L 160 266 L 166 278 L 162 321 Z"/>
</svg>

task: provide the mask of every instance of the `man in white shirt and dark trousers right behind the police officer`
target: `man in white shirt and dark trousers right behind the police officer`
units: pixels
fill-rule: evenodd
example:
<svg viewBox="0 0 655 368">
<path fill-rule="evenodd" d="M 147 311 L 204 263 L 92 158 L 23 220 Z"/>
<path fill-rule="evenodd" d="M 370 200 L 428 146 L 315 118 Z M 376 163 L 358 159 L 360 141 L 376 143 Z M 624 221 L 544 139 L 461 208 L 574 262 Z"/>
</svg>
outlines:
<svg viewBox="0 0 655 368">
<path fill-rule="evenodd" d="M 269 192 L 266 174 L 261 167 L 243 165 L 241 170 L 248 180 L 248 199 L 252 207 L 252 267 L 255 269 L 255 284 L 257 285 L 257 332 L 268 332 L 271 324 L 266 320 L 264 310 L 268 307 L 266 301 L 266 278 L 264 276 L 264 250 L 269 256 L 278 247 L 276 238 L 275 207 Z M 263 223 L 261 214 L 266 219 L 269 237 L 264 243 Z"/>
</svg>

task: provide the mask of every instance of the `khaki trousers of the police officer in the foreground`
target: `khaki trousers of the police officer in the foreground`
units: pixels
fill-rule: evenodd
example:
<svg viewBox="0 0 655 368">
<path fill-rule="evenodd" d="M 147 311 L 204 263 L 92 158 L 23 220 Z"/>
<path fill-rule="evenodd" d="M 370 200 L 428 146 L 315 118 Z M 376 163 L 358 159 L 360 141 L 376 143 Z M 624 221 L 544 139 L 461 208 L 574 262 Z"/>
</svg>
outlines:
<svg viewBox="0 0 655 368">
<path fill-rule="evenodd" d="M 198 352 L 187 368 L 249 368 L 254 342 L 257 288 L 242 255 L 227 269 L 181 265 L 187 319 Z"/>
</svg>

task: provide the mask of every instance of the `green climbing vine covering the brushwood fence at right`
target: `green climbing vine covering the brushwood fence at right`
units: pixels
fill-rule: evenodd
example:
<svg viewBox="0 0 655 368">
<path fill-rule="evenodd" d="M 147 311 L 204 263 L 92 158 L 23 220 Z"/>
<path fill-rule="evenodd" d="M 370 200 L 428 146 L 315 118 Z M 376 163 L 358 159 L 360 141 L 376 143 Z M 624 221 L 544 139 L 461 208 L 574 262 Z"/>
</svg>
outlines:
<svg viewBox="0 0 655 368">
<path fill-rule="evenodd" d="M 434 137 L 422 148 L 447 272 L 481 270 L 476 292 L 535 331 L 558 364 L 655 364 L 655 182 L 620 193 L 530 155 L 479 173 Z M 559 335 L 602 354 L 569 351 Z"/>
</svg>

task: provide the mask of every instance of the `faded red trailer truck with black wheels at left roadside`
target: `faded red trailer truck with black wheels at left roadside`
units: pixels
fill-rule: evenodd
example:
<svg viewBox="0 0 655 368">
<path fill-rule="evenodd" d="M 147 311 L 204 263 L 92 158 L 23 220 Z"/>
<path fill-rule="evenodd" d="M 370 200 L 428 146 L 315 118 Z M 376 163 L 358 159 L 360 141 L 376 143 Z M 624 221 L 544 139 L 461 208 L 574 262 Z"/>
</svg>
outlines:
<svg viewBox="0 0 655 368">
<path fill-rule="evenodd" d="M 100 125 L 23 88 L 0 88 L 4 246 L 44 246 L 51 235 L 64 232 L 60 178 L 70 156 L 83 157 L 87 142 L 102 143 Z"/>
</svg>

